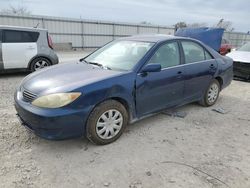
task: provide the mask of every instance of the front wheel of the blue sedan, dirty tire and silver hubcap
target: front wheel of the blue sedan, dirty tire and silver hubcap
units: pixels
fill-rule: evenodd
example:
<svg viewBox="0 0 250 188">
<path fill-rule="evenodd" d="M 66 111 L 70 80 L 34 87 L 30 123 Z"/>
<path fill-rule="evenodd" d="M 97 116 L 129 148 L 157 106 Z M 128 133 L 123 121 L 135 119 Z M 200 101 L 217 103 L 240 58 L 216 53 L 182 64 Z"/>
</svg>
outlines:
<svg viewBox="0 0 250 188">
<path fill-rule="evenodd" d="M 94 144 L 110 144 L 122 135 L 128 119 L 128 112 L 121 103 L 115 100 L 104 101 L 90 113 L 86 136 Z"/>
</svg>

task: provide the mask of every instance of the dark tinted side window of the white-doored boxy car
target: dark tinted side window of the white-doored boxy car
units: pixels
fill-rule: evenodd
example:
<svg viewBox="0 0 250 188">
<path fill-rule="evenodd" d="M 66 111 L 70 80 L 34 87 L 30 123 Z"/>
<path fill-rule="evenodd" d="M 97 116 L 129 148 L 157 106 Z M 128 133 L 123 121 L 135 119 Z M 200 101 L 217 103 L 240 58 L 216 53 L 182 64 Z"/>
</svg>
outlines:
<svg viewBox="0 0 250 188">
<path fill-rule="evenodd" d="M 39 37 L 38 32 L 16 31 L 16 30 L 3 31 L 3 42 L 5 43 L 36 42 L 38 37 Z"/>
</svg>

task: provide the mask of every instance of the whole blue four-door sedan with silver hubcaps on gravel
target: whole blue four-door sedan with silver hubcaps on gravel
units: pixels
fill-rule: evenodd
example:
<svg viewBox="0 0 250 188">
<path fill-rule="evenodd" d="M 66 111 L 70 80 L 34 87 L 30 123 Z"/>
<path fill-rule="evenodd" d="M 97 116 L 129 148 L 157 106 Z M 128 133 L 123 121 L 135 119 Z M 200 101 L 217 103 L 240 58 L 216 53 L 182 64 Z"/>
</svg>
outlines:
<svg viewBox="0 0 250 188">
<path fill-rule="evenodd" d="M 46 139 L 118 139 L 126 125 L 166 108 L 215 104 L 233 61 L 203 43 L 167 35 L 115 40 L 75 63 L 27 76 L 15 93 L 22 124 Z"/>
</svg>

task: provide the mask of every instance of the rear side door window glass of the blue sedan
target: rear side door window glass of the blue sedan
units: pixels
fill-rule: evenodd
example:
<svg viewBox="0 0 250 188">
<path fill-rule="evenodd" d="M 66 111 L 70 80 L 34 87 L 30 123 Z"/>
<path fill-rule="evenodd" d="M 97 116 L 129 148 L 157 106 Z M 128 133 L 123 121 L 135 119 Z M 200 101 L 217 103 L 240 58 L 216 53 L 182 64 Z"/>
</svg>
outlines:
<svg viewBox="0 0 250 188">
<path fill-rule="evenodd" d="M 182 41 L 182 47 L 185 56 L 185 63 L 194 63 L 206 60 L 204 49 L 199 44 L 190 41 Z"/>
</svg>

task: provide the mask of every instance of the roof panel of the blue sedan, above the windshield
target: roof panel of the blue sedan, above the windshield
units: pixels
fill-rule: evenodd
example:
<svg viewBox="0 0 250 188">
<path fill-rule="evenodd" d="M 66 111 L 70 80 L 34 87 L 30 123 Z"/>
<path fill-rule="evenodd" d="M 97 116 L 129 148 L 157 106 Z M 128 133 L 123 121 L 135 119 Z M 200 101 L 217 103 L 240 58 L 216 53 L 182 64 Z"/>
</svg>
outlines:
<svg viewBox="0 0 250 188">
<path fill-rule="evenodd" d="M 121 38 L 120 40 L 134 40 L 143 42 L 161 42 L 171 39 L 180 39 L 184 37 L 176 37 L 173 35 L 163 35 L 163 34 L 147 34 L 147 35 L 133 35 L 129 37 Z"/>
</svg>

